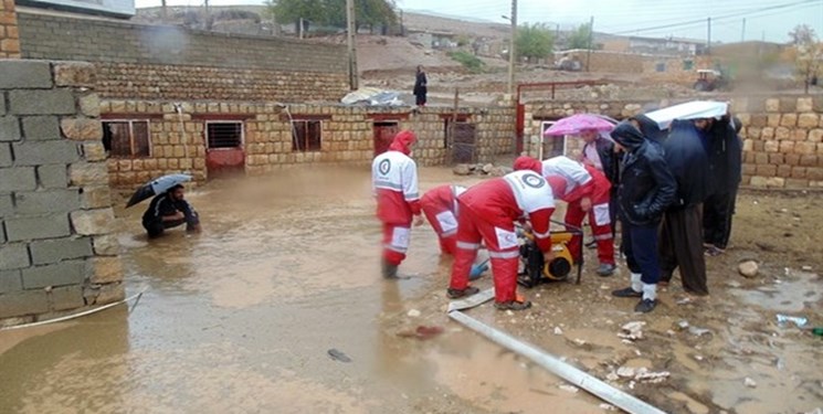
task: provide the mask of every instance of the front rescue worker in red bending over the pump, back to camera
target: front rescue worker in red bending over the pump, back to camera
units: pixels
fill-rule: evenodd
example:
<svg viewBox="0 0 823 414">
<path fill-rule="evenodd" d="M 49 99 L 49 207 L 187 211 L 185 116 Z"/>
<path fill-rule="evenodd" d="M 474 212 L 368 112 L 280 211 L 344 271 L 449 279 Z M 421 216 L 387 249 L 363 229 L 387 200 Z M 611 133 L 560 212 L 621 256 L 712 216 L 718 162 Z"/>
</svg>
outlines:
<svg viewBox="0 0 823 414">
<path fill-rule="evenodd" d="M 476 184 L 457 198 L 457 244 L 447 296 L 452 299 L 479 291 L 468 276 L 481 242 L 492 261 L 495 307 L 523 310 L 531 302 L 517 296 L 520 248 L 515 221 L 528 219 L 537 246 L 553 258 L 549 226 L 555 198 L 546 179 L 532 171 L 515 171 Z"/>
</svg>

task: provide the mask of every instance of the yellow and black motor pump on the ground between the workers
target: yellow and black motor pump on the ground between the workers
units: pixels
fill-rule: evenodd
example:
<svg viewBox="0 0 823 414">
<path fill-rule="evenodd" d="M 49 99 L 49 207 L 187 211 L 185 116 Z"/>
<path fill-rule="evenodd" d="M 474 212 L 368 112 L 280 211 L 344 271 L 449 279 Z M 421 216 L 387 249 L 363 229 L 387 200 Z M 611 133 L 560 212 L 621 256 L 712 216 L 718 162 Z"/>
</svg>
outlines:
<svg viewBox="0 0 823 414">
<path fill-rule="evenodd" d="M 566 280 L 574 264 L 571 251 L 569 251 L 569 242 L 573 235 L 579 233 L 579 231 L 552 232 L 551 248 L 555 253 L 555 258 L 550 263 L 544 263 L 542 252 L 537 247 L 532 234 L 530 232 L 521 232 L 520 262 L 523 263 L 523 272 L 519 273 L 517 283 L 525 287 L 535 287 L 541 283 Z M 577 283 L 580 283 L 582 273 L 582 243 L 580 247 L 581 252 L 579 256 L 581 257 L 581 263 L 577 264 Z"/>
</svg>

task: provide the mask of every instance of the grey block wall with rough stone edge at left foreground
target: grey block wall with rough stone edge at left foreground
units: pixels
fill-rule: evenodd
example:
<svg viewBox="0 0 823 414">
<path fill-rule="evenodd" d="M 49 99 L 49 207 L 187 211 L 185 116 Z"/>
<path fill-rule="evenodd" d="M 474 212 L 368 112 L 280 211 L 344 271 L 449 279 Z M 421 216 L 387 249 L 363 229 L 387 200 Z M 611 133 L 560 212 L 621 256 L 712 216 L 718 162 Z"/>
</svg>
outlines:
<svg viewBox="0 0 823 414">
<path fill-rule="evenodd" d="M 93 67 L 0 73 L 0 325 L 122 299 Z"/>
</svg>

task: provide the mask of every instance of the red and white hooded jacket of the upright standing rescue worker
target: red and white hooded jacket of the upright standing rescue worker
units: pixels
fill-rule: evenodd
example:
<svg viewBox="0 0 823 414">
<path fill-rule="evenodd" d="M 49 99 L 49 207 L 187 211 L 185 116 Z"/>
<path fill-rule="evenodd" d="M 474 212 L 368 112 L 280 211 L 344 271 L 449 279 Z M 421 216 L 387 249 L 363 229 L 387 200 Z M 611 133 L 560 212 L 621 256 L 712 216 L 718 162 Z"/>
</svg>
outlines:
<svg viewBox="0 0 823 414">
<path fill-rule="evenodd" d="M 389 150 L 371 163 L 371 183 L 377 197 L 377 216 L 387 224 L 410 224 L 420 214 L 418 166 L 409 155 L 414 134 L 400 131 Z"/>
</svg>

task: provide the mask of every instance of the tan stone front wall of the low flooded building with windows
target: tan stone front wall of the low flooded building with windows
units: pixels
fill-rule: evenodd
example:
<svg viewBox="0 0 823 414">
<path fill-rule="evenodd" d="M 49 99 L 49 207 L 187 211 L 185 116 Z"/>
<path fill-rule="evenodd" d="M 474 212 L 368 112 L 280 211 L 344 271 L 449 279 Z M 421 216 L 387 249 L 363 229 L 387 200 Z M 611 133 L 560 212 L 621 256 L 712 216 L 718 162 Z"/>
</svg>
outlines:
<svg viewBox="0 0 823 414">
<path fill-rule="evenodd" d="M 368 164 L 374 156 L 376 121 L 397 121 L 419 137 L 415 159 L 422 166 L 447 162 L 445 120 L 452 109 L 428 107 L 361 107 L 342 105 L 279 105 L 275 103 L 189 102 L 176 112 L 173 103 L 110 100 L 101 103 L 107 120 L 148 120 L 150 156 L 109 158 L 114 187 L 134 187 L 150 178 L 188 172 L 197 181 L 208 178 L 207 121 L 242 121 L 245 172 L 262 174 L 303 163 Z M 319 151 L 294 151 L 292 119 L 321 121 Z M 510 153 L 514 148 L 514 109 L 510 107 L 461 108 L 458 119 L 475 125 L 477 161 Z M 182 134 L 181 134 L 182 131 Z"/>
</svg>

